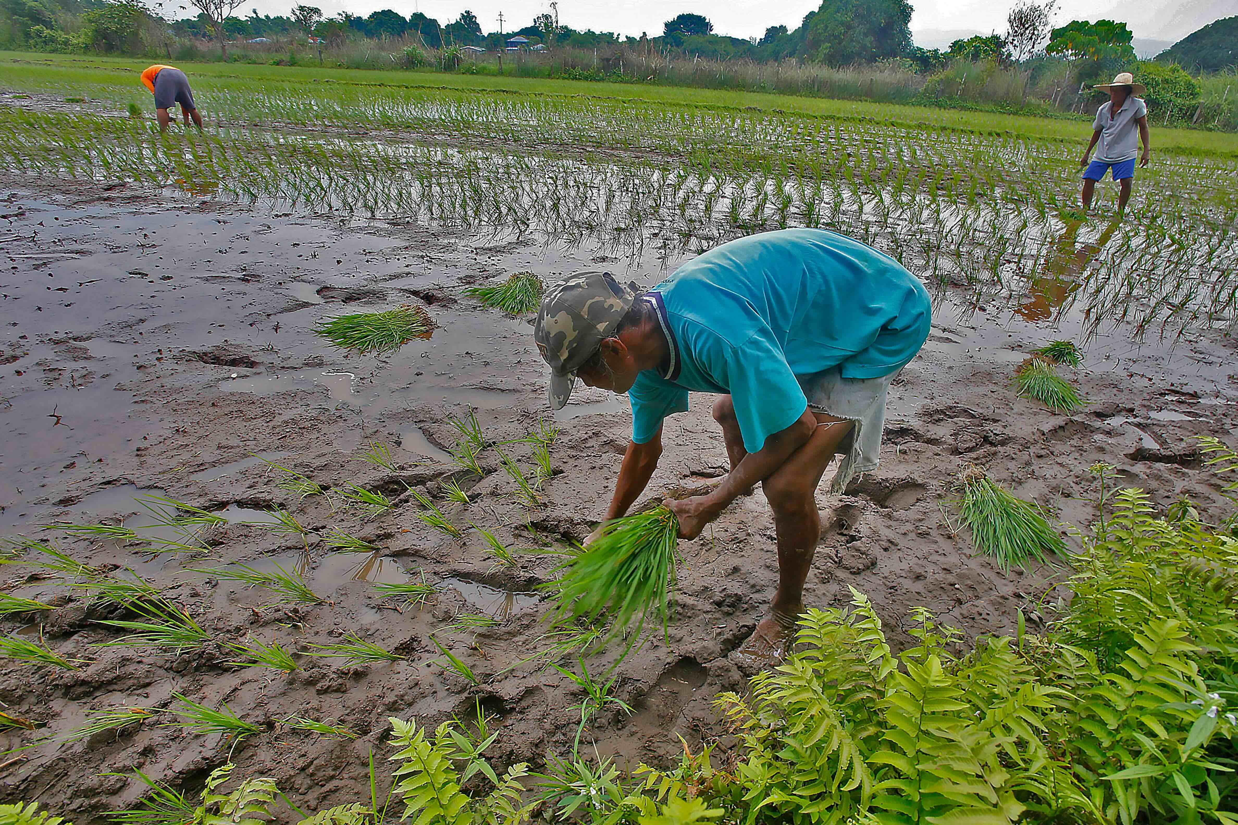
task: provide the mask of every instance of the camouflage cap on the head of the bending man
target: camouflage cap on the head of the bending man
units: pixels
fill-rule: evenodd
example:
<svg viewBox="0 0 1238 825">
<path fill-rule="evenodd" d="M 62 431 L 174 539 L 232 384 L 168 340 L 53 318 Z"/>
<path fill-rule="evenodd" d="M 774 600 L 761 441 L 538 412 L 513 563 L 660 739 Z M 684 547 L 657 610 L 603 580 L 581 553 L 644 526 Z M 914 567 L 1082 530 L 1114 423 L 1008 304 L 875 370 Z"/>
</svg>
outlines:
<svg viewBox="0 0 1238 825">
<path fill-rule="evenodd" d="M 576 371 L 598 351 L 603 339 L 614 335 L 635 299 L 636 284 L 624 286 L 609 272 L 576 272 L 546 289 L 534 340 L 550 364 L 553 409 L 567 403 Z"/>
</svg>

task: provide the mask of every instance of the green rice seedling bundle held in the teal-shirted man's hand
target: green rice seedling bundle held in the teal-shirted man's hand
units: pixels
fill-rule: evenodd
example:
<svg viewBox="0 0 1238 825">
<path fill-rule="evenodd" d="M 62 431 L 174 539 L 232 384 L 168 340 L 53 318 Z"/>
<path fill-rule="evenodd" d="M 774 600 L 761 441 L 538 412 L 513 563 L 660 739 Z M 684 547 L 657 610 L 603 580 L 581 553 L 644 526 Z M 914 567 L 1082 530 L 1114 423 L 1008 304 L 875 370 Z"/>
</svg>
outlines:
<svg viewBox="0 0 1238 825">
<path fill-rule="evenodd" d="M 605 612 L 610 632 L 603 641 L 635 621 L 635 642 L 652 613 L 665 633 L 678 532 L 678 518 L 662 506 L 607 522 L 582 553 L 556 568 L 563 571 L 560 579 L 546 585 L 558 590 L 552 610 L 556 625 L 577 616 L 592 625 Z"/>
</svg>

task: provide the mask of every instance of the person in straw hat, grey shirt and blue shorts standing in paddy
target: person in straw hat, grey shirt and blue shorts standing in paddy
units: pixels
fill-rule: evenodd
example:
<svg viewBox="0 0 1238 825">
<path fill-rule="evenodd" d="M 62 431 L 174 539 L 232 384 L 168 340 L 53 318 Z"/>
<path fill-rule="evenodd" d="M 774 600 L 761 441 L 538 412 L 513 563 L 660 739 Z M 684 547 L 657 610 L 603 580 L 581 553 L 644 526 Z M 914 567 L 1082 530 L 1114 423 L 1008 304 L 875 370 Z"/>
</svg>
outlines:
<svg viewBox="0 0 1238 825">
<path fill-rule="evenodd" d="M 1123 72 L 1113 78 L 1113 83 L 1099 83 L 1094 88 L 1109 93 L 1109 101 L 1097 109 L 1092 121 L 1092 142 L 1087 145 L 1080 166 L 1083 172 L 1083 210 L 1092 207 L 1092 192 L 1096 182 L 1112 169 L 1113 179 L 1122 187 L 1118 195 L 1118 212 L 1125 212 L 1130 199 L 1130 184 L 1135 178 L 1135 157 L 1139 155 L 1138 140 L 1144 142 L 1144 153 L 1139 166 L 1146 167 L 1151 156 L 1151 143 L 1148 142 L 1148 106 L 1136 94 L 1148 89 L 1143 83 L 1135 83 L 1130 72 Z M 1136 137 L 1138 131 L 1138 137 Z M 1088 163 L 1088 156 L 1096 148 L 1096 160 Z"/>
</svg>

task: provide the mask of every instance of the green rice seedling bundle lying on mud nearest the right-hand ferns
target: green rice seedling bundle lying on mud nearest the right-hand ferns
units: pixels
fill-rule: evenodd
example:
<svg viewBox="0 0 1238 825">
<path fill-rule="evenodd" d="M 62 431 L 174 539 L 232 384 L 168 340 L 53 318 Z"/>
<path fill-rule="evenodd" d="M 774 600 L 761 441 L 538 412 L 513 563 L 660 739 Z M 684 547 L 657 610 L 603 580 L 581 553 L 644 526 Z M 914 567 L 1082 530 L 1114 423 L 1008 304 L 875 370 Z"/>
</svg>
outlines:
<svg viewBox="0 0 1238 825">
<path fill-rule="evenodd" d="M 1003 570 L 1029 558 L 1045 563 L 1050 553 L 1066 555 L 1066 542 L 1039 505 L 1016 497 L 979 468 L 966 470 L 959 486 L 958 516 L 971 528 L 972 543 Z"/>
</svg>

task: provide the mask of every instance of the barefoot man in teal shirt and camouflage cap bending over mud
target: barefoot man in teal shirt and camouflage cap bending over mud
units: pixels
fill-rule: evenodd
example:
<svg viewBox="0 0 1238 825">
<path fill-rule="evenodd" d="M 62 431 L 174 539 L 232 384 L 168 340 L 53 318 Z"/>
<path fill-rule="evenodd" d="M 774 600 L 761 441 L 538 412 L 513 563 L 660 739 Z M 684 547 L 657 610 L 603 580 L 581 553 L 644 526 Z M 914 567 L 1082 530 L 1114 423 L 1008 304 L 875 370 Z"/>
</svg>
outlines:
<svg viewBox="0 0 1238 825">
<path fill-rule="evenodd" d="M 534 335 L 551 366 L 551 406 L 576 377 L 631 401 L 631 443 L 607 518 L 628 512 L 662 453 L 662 419 L 688 392 L 721 397 L 713 417 L 730 472 L 708 495 L 667 501 L 696 538 L 761 482 L 774 510 L 779 585 L 742 651 L 781 656 L 803 612 L 821 534 L 816 489 L 836 454 L 832 490 L 878 465 L 890 380 L 928 336 L 924 286 L 896 261 L 843 235 L 787 229 L 723 244 L 649 292 L 604 272 L 547 291 Z"/>
</svg>

